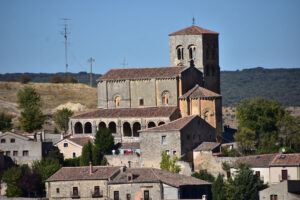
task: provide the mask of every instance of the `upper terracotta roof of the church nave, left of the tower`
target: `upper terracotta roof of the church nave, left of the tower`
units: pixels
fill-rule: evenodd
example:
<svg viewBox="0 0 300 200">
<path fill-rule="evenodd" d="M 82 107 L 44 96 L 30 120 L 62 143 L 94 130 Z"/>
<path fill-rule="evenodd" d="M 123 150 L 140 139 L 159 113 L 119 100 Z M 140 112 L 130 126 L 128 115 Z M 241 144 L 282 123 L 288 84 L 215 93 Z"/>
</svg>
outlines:
<svg viewBox="0 0 300 200">
<path fill-rule="evenodd" d="M 111 69 L 97 81 L 177 77 L 186 66 Z"/>
</svg>

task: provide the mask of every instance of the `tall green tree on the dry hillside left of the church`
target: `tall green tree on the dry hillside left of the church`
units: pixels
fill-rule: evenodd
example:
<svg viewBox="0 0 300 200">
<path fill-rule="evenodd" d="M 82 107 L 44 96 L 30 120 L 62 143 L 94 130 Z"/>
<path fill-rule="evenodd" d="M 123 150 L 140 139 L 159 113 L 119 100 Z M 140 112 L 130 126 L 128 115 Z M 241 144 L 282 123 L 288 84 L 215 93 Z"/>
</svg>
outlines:
<svg viewBox="0 0 300 200">
<path fill-rule="evenodd" d="M 23 90 L 18 92 L 17 102 L 22 110 L 19 117 L 21 129 L 28 132 L 41 129 L 46 117 L 40 108 L 41 97 L 35 89 L 24 87 Z"/>
</svg>

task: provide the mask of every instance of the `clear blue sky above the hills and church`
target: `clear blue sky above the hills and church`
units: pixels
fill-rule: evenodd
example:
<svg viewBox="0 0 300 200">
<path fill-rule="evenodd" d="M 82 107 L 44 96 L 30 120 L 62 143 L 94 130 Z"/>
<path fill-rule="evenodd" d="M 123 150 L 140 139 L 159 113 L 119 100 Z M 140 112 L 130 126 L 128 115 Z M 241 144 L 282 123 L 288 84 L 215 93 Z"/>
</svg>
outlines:
<svg viewBox="0 0 300 200">
<path fill-rule="evenodd" d="M 300 0 L 0 0 L 0 73 L 169 66 L 168 34 L 192 24 L 220 33 L 221 70 L 300 67 Z"/>
</svg>

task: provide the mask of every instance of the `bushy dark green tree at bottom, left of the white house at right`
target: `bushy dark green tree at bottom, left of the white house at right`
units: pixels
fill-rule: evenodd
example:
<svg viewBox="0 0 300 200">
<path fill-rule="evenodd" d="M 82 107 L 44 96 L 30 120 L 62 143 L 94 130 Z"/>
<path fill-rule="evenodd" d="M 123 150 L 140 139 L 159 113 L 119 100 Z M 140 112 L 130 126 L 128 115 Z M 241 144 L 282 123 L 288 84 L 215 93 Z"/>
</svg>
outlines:
<svg viewBox="0 0 300 200">
<path fill-rule="evenodd" d="M 258 192 L 267 186 L 247 165 L 240 165 L 234 180 L 229 179 L 227 199 L 258 200 Z"/>
</svg>

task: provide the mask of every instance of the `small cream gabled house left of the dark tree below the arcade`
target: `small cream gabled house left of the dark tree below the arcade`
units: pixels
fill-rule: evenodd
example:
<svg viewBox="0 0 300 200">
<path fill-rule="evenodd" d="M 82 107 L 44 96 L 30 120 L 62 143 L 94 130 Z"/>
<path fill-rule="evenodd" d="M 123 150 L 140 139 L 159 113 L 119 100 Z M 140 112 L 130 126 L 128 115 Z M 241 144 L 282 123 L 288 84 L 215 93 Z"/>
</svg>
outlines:
<svg viewBox="0 0 300 200">
<path fill-rule="evenodd" d="M 92 136 L 72 137 L 68 136 L 58 141 L 54 146 L 64 155 L 64 159 L 75 158 L 81 156 L 82 148 L 88 142 L 94 143 Z"/>
</svg>

